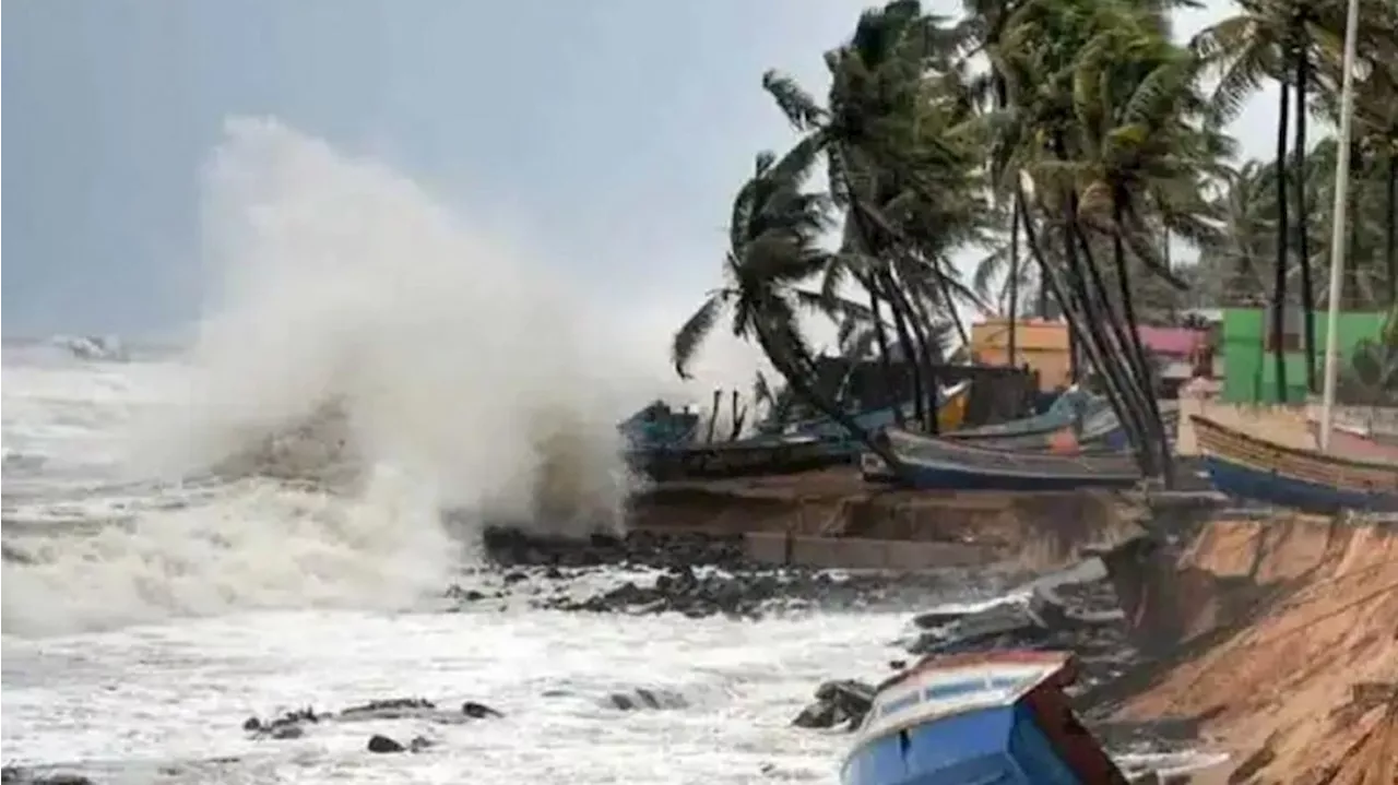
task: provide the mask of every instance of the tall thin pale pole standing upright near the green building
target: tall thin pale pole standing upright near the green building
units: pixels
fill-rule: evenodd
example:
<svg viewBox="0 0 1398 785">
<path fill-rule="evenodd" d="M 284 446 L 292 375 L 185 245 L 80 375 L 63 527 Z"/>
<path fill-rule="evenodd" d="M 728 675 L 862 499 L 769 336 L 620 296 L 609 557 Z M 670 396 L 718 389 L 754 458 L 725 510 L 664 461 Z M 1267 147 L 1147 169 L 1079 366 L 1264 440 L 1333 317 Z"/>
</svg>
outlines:
<svg viewBox="0 0 1398 785">
<path fill-rule="evenodd" d="M 1339 377 L 1339 300 L 1345 286 L 1346 208 L 1349 207 L 1349 116 L 1355 113 L 1355 49 L 1359 36 L 1359 0 L 1349 0 L 1345 20 L 1345 77 L 1339 91 L 1339 149 L 1335 155 L 1335 212 L 1329 237 L 1329 318 L 1325 321 L 1325 387 L 1320 406 L 1320 448 L 1329 451 L 1334 427 L 1335 381 Z M 1282 85 L 1282 89 L 1286 89 Z M 1304 112 L 1300 106 L 1297 112 Z M 1297 175 L 1300 176 L 1300 175 Z"/>
</svg>

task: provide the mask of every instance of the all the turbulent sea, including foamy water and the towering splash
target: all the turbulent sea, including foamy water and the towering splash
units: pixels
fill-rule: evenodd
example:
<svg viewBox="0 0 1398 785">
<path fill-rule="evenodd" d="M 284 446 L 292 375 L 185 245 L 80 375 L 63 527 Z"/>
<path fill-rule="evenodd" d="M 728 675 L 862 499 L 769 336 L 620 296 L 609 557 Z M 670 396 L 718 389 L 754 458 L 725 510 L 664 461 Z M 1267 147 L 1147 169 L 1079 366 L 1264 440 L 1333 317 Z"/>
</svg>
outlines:
<svg viewBox="0 0 1398 785">
<path fill-rule="evenodd" d="M 482 520 L 615 525 L 611 423 L 651 392 L 614 356 L 625 337 L 411 182 L 274 123 L 231 126 L 206 175 L 208 302 L 186 348 L 0 346 L 0 765 L 833 781 L 846 739 L 788 721 L 819 680 L 875 673 L 902 616 L 440 612 Z M 604 701 L 636 686 L 689 705 Z M 394 696 L 505 718 L 240 728 Z M 438 743 L 370 756 L 370 732 Z"/>
</svg>

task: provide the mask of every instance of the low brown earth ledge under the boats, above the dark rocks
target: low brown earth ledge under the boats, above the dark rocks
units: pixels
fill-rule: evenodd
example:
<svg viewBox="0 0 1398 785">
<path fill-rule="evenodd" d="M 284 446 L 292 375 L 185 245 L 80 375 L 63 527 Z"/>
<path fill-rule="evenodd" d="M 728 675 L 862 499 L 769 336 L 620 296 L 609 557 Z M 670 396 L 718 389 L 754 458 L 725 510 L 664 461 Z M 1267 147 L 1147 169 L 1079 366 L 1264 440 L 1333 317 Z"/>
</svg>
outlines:
<svg viewBox="0 0 1398 785">
<path fill-rule="evenodd" d="M 902 492 L 840 469 L 657 485 L 632 499 L 628 529 L 740 535 L 765 564 L 1054 568 L 1128 536 L 1134 520 L 1113 493 Z"/>
</svg>

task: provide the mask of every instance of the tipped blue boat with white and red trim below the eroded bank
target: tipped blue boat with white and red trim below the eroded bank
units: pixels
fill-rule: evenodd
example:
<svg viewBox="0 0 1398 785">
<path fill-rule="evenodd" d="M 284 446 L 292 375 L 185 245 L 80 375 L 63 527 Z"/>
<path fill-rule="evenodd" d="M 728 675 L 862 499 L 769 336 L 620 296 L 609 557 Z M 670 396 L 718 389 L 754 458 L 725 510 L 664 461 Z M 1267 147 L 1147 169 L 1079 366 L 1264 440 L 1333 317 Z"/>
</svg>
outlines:
<svg viewBox="0 0 1398 785">
<path fill-rule="evenodd" d="M 924 659 L 884 683 L 840 771 L 842 785 L 1125 785 L 1064 687 L 1061 652 Z"/>
</svg>

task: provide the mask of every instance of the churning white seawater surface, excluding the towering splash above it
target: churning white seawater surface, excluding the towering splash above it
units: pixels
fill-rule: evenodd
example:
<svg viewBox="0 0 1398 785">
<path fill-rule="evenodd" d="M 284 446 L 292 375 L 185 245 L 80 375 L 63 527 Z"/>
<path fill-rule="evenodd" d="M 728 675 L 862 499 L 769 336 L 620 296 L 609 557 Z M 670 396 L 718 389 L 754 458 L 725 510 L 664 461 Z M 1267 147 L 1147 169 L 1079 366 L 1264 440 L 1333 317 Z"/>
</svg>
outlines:
<svg viewBox="0 0 1398 785">
<path fill-rule="evenodd" d="M 29 562 L 0 563 L 0 764 L 115 782 L 832 782 L 846 739 L 788 722 L 818 682 L 877 675 L 906 623 L 439 612 L 436 575 L 352 557 L 373 541 L 343 524 L 393 510 L 264 480 L 123 480 L 113 434 L 161 405 L 179 363 L 50 355 L 0 352 L 0 439 L 24 489 L 0 543 Z M 299 538 L 292 553 L 271 556 L 264 525 Z M 605 700 L 637 686 L 689 705 Z M 240 729 L 397 696 L 505 718 L 323 724 L 295 740 Z M 436 744 L 372 756 L 375 732 Z"/>
</svg>

